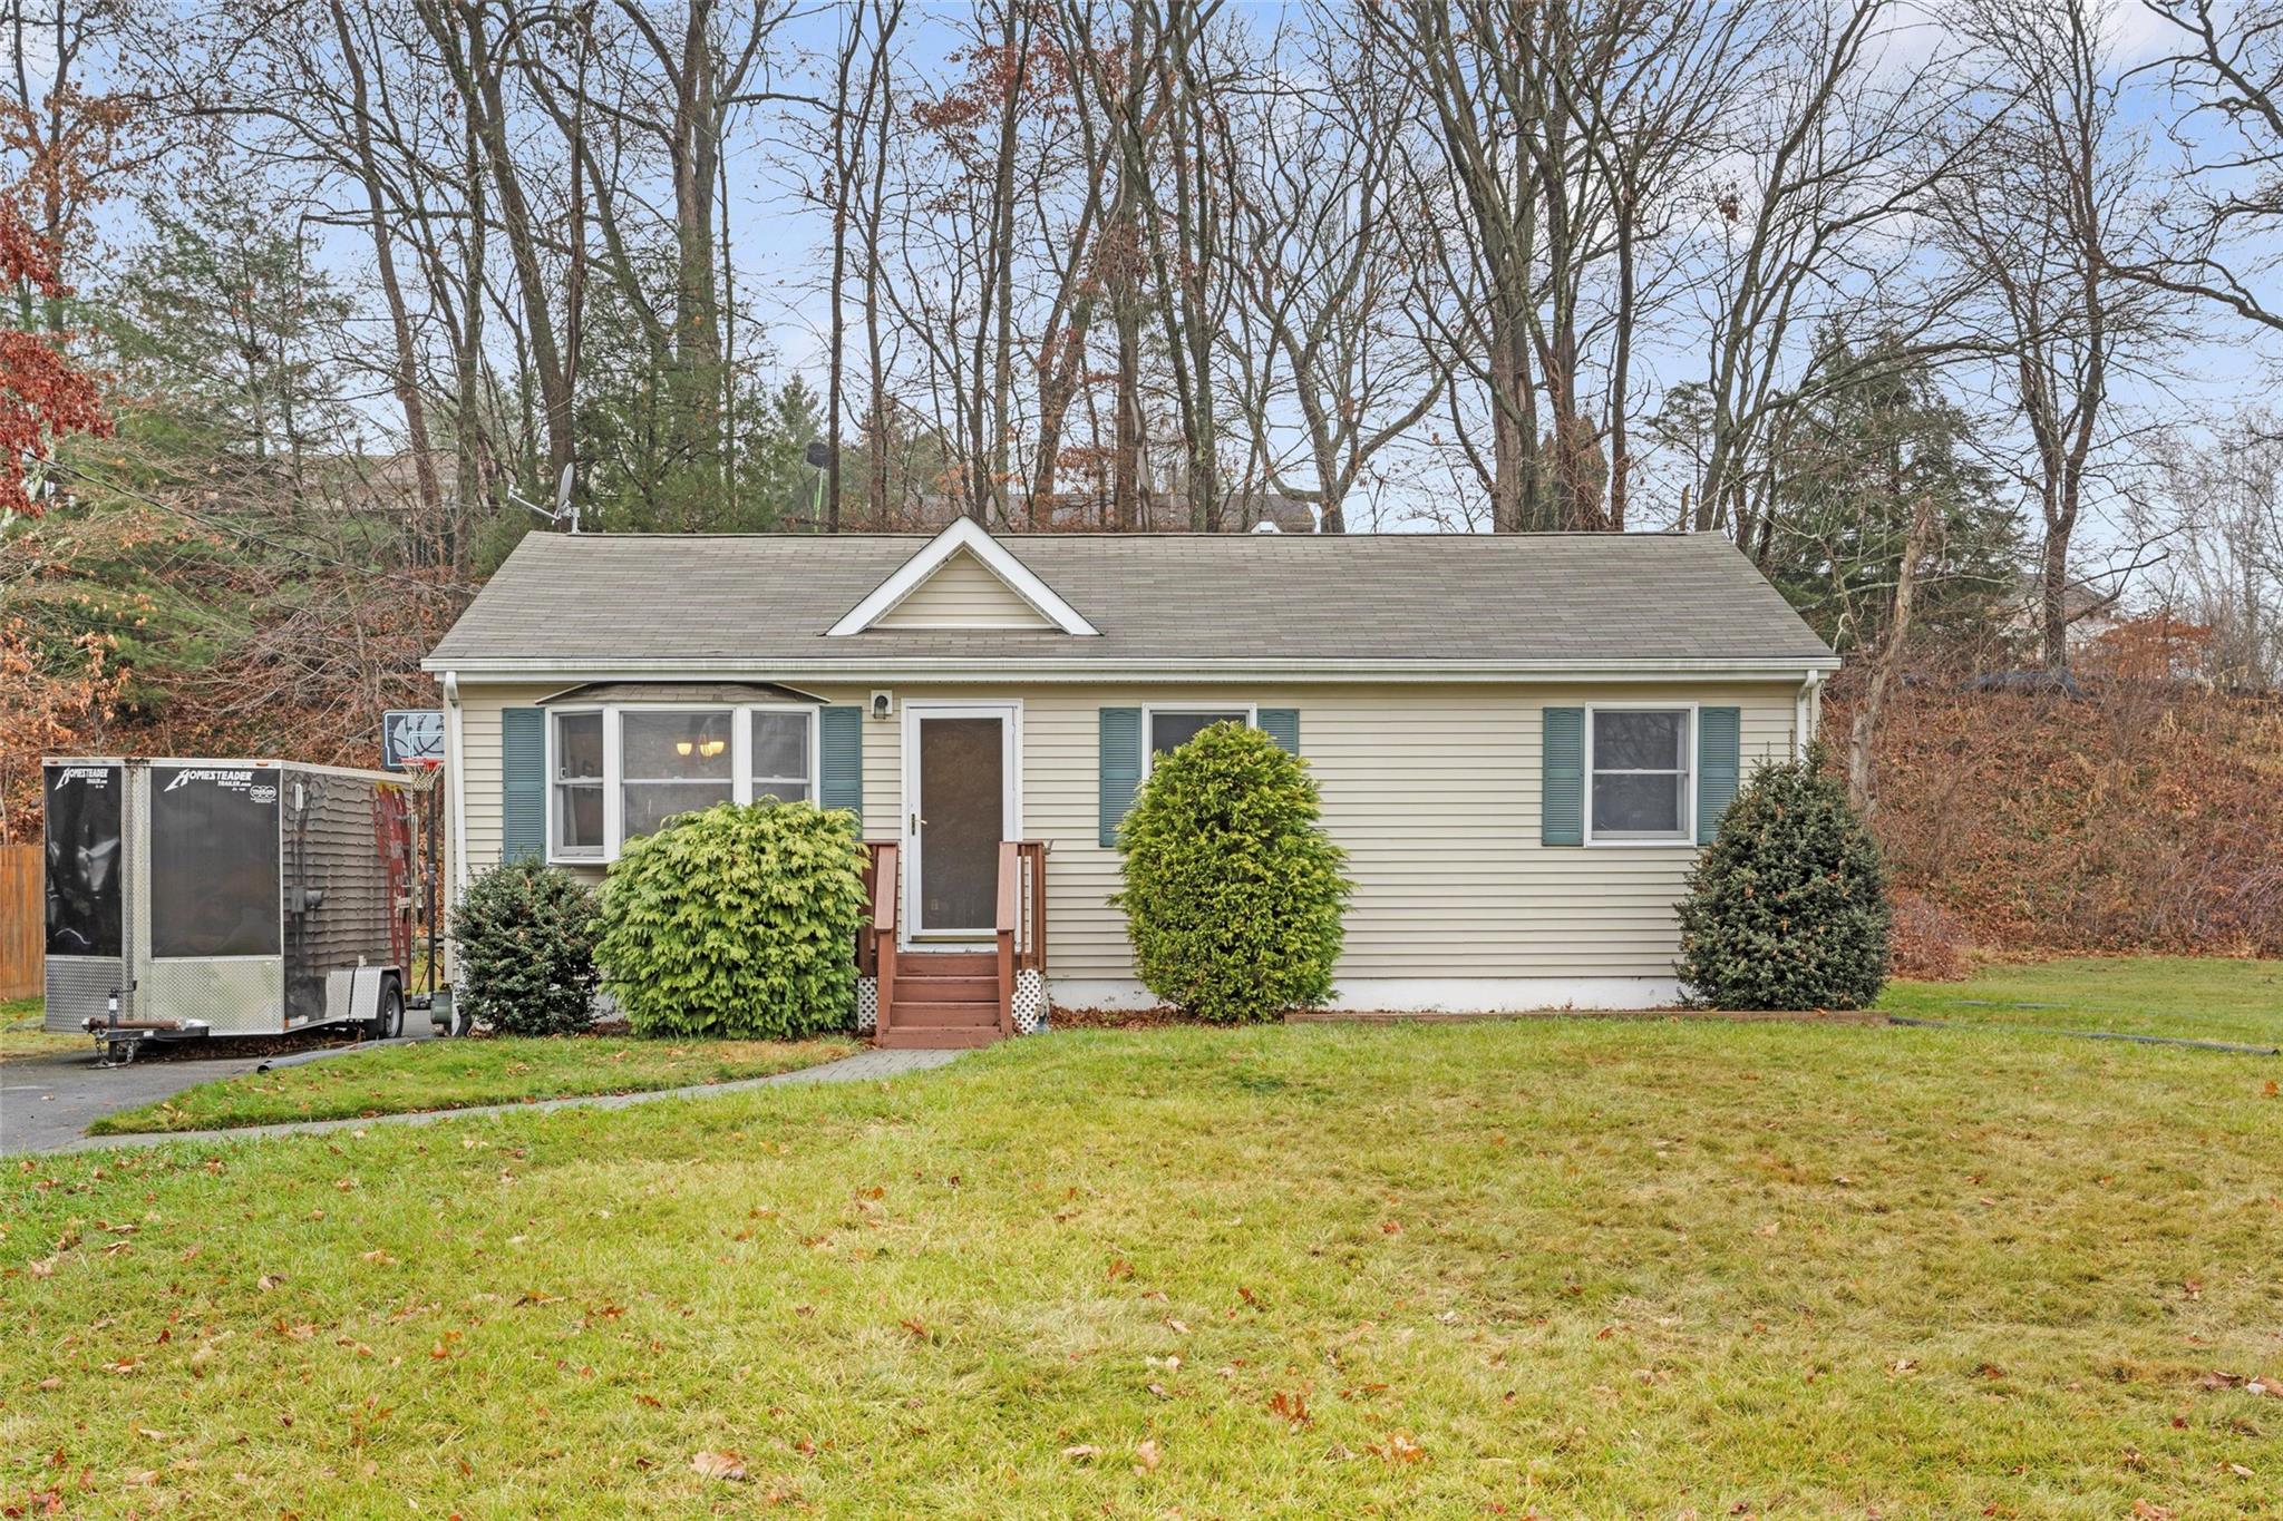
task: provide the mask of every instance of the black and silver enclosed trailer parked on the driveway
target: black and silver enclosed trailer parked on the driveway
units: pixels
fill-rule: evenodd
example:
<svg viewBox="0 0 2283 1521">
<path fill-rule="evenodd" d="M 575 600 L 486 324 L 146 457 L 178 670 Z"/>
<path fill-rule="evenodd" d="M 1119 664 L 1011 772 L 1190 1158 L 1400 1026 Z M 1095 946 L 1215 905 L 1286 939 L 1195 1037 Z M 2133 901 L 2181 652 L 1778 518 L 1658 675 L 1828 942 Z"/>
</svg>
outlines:
<svg viewBox="0 0 2283 1521">
<path fill-rule="evenodd" d="M 404 1031 L 409 782 L 269 759 L 48 759 L 46 1028 Z"/>
</svg>

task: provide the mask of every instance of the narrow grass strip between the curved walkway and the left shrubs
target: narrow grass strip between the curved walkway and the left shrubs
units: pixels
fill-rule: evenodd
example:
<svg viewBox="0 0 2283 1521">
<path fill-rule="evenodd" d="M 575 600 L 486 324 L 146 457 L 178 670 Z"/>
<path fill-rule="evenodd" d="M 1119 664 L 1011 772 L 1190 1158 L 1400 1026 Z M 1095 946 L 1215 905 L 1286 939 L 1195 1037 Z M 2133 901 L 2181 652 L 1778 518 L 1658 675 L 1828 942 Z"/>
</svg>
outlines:
<svg viewBox="0 0 2283 1521">
<path fill-rule="evenodd" d="M 281 1120 L 354 1120 L 418 1108 L 518 1104 L 582 1092 L 646 1092 L 769 1076 L 858 1051 L 833 1040 L 434 1040 L 329 1056 L 187 1088 L 89 1126 L 98 1136 L 210 1131 Z"/>
</svg>

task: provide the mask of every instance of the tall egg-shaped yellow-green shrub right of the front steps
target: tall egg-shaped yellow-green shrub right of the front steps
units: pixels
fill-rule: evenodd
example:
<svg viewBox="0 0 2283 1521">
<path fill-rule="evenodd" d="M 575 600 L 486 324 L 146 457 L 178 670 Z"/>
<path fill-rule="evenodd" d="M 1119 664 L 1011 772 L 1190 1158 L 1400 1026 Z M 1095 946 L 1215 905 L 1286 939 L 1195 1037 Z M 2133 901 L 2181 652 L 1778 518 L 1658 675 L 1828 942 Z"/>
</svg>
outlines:
<svg viewBox="0 0 2283 1521">
<path fill-rule="evenodd" d="M 1317 819 L 1308 768 L 1242 723 L 1160 755 L 1119 825 L 1142 983 L 1167 1003 L 1240 1024 L 1331 999 L 1347 853 Z"/>
</svg>

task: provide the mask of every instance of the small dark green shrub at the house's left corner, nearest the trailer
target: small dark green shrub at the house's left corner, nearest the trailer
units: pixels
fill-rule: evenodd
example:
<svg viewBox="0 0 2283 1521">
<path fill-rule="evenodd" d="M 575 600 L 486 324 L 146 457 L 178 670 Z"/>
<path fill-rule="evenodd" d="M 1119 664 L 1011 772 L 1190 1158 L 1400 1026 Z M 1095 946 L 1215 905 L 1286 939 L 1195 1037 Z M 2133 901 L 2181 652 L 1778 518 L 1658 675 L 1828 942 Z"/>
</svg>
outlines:
<svg viewBox="0 0 2283 1521">
<path fill-rule="evenodd" d="M 562 1035 L 594 1019 L 594 889 L 521 860 L 484 871 L 452 912 L 459 1006 L 502 1035 Z"/>
</svg>

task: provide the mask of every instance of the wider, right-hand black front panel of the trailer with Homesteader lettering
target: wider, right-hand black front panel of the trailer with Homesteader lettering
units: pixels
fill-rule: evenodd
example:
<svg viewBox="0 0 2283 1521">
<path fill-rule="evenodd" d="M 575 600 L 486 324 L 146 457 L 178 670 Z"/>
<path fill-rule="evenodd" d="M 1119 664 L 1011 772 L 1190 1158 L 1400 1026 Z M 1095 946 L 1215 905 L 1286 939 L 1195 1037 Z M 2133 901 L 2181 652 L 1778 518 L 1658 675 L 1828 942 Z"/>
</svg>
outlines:
<svg viewBox="0 0 2283 1521">
<path fill-rule="evenodd" d="M 279 953 L 279 778 L 151 768 L 151 955 Z"/>
</svg>

